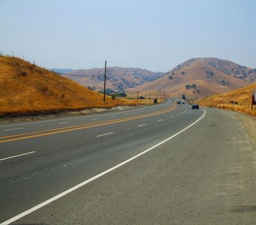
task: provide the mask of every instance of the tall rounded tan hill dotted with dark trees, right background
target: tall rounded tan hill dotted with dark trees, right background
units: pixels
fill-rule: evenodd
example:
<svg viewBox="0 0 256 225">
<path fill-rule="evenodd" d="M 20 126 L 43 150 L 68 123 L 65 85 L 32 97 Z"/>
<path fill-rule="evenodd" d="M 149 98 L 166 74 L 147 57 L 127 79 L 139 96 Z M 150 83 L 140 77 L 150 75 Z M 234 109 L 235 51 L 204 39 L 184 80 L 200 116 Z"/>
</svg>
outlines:
<svg viewBox="0 0 256 225">
<path fill-rule="evenodd" d="M 253 80 L 256 80 L 256 69 L 219 58 L 192 58 L 167 75 L 127 91 L 135 93 L 140 89 L 155 93 L 164 89 L 171 96 L 185 94 L 188 98 L 201 98 L 237 89 Z"/>
</svg>

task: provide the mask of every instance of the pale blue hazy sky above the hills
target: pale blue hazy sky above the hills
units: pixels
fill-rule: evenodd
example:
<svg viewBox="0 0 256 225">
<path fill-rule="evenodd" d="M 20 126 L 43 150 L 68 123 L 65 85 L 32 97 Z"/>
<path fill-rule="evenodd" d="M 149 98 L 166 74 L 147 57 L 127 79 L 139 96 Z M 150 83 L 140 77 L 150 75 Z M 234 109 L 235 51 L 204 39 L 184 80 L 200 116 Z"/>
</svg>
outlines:
<svg viewBox="0 0 256 225">
<path fill-rule="evenodd" d="M 256 68 L 256 1 L 0 0 L 0 50 L 48 68 L 164 72 L 193 57 Z"/>
</svg>

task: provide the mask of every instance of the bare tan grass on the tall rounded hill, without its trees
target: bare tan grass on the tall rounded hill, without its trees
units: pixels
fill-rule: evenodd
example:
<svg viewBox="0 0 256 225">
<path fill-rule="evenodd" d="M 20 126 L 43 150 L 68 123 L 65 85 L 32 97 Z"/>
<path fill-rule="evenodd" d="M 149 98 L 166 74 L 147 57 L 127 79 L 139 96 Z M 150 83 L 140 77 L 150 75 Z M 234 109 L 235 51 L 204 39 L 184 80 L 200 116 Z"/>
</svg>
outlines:
<svg viewBox="0 0 256 225">
<path fill-rule="evenodd" d="M 127 89 L 127 92 L 136 93 L 139 89 L 142 93 L 146 90 L 147 95 L 151 93 L 155 96 L 154 93 L 165 90 L 165 93 L 173 97 L 185 94 L 187 98 L 202 98 L 213 94 L 226 93 L 248 85 L 248 81 L 234 78 L 232 75 L 226 75 L 210 66 L 209 63 L 213 59 L 214 58 L 197 58 L 197 60 L 190 65 L 175 71 L 175 75 L 172 76 L 171 80 L 169 79 L 171 73 L 167 73 L 167 75 L 153 80 L 152 82 L 145 82 L 138 87 Z M 229 63 L 232 67 L 237 65 L 232 62 Z M 214 77 L 207 78 L 206 71 L 208 70 L 215 74 Z M 185 72 L 185 75 L 182 75 L 182 72 Z M 221 80 L 225 80 L 228 84 L 221 84 Z M 186 89 L 185 85 L 187 84 L 196 84 L 197 89 Z"/>
</svg>

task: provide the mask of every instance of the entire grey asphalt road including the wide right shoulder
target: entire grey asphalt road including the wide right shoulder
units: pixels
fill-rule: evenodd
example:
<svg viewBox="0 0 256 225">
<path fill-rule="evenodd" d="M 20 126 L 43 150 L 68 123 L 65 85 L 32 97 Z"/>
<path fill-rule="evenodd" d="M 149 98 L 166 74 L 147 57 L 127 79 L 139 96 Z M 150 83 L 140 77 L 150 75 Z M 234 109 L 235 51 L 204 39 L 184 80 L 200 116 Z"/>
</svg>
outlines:
<svg viewBox="0 0 256 225">
<path fill-rule="evenodd" d="M 248 136 L 231 113 L 204 114 L 168 101 L 0 125 L 0 222 L 255 224 Z"/>
</svg>

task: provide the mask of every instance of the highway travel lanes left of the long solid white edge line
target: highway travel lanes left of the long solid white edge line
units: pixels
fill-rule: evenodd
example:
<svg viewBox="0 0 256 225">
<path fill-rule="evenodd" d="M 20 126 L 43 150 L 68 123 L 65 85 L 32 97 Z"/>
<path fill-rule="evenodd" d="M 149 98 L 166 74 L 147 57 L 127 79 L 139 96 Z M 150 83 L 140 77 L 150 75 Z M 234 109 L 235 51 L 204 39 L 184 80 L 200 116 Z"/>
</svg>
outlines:
<svg viewBox="0 0 256 225">
<path fill-rule="evenodd" d="M 1 126 L 1 220 L 156 145 L 201 114 L 168 101 L 118 113 Z"/>
</svg>

